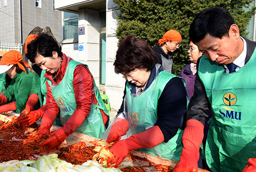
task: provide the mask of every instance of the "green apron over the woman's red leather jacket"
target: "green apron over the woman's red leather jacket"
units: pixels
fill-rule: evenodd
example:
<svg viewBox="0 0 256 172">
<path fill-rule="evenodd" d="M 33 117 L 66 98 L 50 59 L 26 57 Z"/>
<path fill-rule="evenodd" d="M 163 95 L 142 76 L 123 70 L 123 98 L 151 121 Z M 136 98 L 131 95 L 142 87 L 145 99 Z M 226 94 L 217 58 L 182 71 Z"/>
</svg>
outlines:
<svg viewBox="0 0 256 172">
<path fill-rule="evenodd" d="M 82 64 L 82 63 L 71 60 L 67 66 L 65 76 L 63 77 L 61 82 L 56 86 L 53 86 L 52 82 L 49 79 L 47 79 L 52 89 L 52 95 L 54 97 L 54 100 L 60 109 L 60 122 L 62 125 L 67 123 L 68 119 L 76 110 L 73 79 L 74 79 L 75 67 L 79 64 Z M 87 65 L 85 66 L 87 67 Z M 108 115 L 109 115 L 109 112 L 106 109 L 100 97 L 99 90 L 96 87 L 94 80 L 93 80 L 93 84 L 94 84 L 94 88 L 92 90 L 92 94 L 95 94 L 98 104 L 100 106 L 95 105 L 92 98 L 91 111 L 89 115 L 86 117 L 86 119 L 84 120 L 84 122 L 82 123 L 82 125 L 76 129 L 76 132 L 81 132 L 92 137 L 101 138 L 102 134 L 105 131 L 105 127 L 104 127 L 102 116 L 99 109 L 102 109 Z"/>
</svg>

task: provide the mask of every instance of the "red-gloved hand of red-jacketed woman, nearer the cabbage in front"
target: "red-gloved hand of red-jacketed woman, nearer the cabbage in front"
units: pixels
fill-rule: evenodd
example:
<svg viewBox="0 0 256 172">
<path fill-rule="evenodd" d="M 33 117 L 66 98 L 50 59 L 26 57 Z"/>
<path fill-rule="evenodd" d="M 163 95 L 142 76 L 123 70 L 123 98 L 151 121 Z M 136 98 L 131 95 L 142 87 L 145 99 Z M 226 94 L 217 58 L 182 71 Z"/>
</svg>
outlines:
<svg viewBox="0 0 256 172">
<path fill-rule="evenodd" d="M 51 136 L 46 141 L 42 142 L 40 146 L 49 145 L 52 148 L 57 147 L 60 145 L 69 135 L 65 134 L 65 131 L 63 130 L 63 127 L 59 128 L 58 130 L 55 130 L 51 133 Z"/>
</svg>

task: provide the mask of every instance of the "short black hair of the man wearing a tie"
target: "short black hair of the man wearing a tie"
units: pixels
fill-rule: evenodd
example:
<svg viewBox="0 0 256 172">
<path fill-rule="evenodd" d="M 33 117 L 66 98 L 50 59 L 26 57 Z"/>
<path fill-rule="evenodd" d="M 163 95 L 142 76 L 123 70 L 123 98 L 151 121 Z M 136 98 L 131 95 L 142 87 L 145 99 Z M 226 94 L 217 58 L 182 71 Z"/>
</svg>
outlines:
<svg viewBox="0 0 256 172">
<path fill-rule="evenodd" d="M 205 35 L 222 38 L 229 36 L 230 26 L 236 24 L 229 12 L 220 7 L 201 11 L 190 24 L 189 38 L 194 43 L 204 39 Z"/>
</svg>

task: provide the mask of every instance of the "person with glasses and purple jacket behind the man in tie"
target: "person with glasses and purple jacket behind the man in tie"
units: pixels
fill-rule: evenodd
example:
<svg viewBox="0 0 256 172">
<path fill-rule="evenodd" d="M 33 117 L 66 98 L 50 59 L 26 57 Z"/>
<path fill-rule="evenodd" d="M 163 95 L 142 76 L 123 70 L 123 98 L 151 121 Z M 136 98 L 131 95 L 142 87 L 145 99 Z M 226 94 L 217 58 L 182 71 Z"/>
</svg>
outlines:
<svg viewBox="0 0 256 172">
<path fill-rule="evenodd" d="M 185 65 L 185 67 L 181 70 L 179 76 L 184 78 L 186 81 L 187 94 L 190 99 L 194 94 L 194 85 L 195 85 L 196 72 L 197 72 L 197 60 L 203 54 L 198 50 L 197 45 L 194 44 L 192 41 L 190 41 L 189 43 L 189 49 L 187 53 L 188 53 L 189 61 Z"/>
</svg>

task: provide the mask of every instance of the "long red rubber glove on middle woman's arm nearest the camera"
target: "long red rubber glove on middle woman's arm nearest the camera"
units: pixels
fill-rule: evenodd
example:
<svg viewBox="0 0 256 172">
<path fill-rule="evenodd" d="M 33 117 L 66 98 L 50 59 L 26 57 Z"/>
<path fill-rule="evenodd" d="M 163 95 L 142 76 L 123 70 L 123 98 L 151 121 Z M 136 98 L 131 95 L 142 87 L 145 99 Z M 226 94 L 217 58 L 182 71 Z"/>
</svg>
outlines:
<svg viewBox="0 0 256 172">
<path fill-rule="evenodd" d="M 114 159 L 109 159 L 107 163 L 116 163 L 115 167 L 117 167 L 132 150 L 153 148 L 163 141 L 164 136 L 160 128 L 158 126 L 151 127 L 144 132 L 117 141 L 110 149 L 110 152 L 115 157 Z"/>
</svg>

